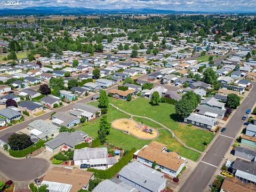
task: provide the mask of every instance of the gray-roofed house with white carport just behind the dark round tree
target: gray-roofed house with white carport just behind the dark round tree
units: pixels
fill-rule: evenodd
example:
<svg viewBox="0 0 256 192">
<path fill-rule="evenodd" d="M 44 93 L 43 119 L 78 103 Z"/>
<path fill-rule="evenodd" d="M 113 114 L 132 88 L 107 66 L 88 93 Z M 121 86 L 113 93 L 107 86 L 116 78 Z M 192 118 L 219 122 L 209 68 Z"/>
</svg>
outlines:
<svg viewBox="0 0 256 192">
<path fill-rule="evenodd" d="M 59 134 L 59 127 L 42 119 L 35 120 L 28 124 L 29 135 L 31 138 L 46 140 Z"/>
</svg>

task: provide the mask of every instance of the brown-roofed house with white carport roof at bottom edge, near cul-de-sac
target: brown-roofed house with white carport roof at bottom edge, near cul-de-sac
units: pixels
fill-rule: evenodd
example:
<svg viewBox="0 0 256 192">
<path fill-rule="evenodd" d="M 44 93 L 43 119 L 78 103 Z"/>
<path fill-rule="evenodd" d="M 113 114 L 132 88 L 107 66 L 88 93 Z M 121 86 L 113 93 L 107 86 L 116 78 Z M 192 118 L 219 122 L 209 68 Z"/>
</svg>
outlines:
<svg viewBox="0 0 256 192">
<path fill-rule="evenodd" d="M 88 190 L 90 179 L 94 179 L 93 172 L 53 167 L 45 174 L 42 185 L 47 185 L 49 191 L 77 192 L 80 189 Z"/>
</svg>

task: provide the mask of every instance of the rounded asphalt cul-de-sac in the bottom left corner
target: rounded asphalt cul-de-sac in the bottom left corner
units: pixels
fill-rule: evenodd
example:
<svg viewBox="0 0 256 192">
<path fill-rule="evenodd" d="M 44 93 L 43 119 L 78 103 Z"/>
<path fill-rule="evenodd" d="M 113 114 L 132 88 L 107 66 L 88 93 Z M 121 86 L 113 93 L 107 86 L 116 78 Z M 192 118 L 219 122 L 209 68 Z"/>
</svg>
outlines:
<svg viewBox="0 0 256 192">
<path fill-rule="evenodd" d="M 42 158 L 10 158 L 0 153 L 0 171 L 5 177 L 14 181 L 30 181 L 41 177 L 49 162 Z"/>
</svg>

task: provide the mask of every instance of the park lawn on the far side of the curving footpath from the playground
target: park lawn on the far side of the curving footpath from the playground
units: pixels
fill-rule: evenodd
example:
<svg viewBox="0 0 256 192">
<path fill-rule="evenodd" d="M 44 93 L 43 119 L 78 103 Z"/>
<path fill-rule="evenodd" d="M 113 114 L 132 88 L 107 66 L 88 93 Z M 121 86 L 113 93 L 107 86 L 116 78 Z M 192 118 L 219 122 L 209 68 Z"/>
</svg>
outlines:
<svg viewBox="0 0 256 192">
<path fill-rule="evenodd" d="M 109 98 L 109 101 L 132 115 L 146 116 L 162 123 L 173 130 L 187 146 L 193 147 L 194 149 L 204 151 L 204 141 L 210 142 L 214 137 L 213 133 L 209 131 L 189 126 L 182 127 L 182 124 L 177 122 L 174 105 L 159 103 L 159 106 L 151 106 L 149 100 L 145 98 L 137 98 L 131 102 Z"/>
</svg>

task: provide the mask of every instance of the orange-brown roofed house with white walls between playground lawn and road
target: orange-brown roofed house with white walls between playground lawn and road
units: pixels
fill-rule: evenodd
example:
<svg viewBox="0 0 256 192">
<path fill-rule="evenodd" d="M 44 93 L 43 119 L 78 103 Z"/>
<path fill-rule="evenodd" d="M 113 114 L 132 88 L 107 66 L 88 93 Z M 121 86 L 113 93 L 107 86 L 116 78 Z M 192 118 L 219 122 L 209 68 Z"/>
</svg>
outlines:
<svg viewBox="0 0 256 192">
<path fill-rule="evenodd" d="M 156 162 L 155 169 L 177 177 L 187 161 L 186 158 L 180 157 L 175 151 L 168 151 L 166 145 L 152 141 L 133 154 L 133 158 L 147 166 L 152 167 Z"/>
</svg>

